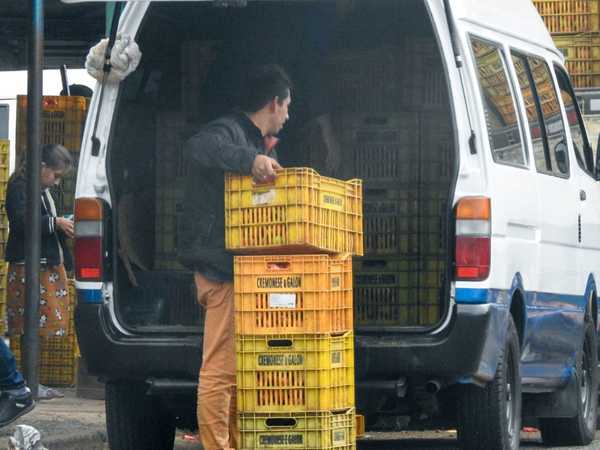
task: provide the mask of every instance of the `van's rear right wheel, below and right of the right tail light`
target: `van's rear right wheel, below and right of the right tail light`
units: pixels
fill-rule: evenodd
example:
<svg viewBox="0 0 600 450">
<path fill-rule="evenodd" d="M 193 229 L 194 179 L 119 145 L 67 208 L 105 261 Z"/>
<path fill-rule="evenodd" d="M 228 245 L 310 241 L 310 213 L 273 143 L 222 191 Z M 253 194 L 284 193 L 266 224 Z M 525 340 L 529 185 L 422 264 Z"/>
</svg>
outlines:
<svg viewBox="0 0 600 450">
<path fill-rule="evenodd" d="M 487 386 L 461 387 L 458 440 L 461 449 L 518 450 L 521 431 L 521 351 L 511 316 L 496 375 Z"/>
</svg>

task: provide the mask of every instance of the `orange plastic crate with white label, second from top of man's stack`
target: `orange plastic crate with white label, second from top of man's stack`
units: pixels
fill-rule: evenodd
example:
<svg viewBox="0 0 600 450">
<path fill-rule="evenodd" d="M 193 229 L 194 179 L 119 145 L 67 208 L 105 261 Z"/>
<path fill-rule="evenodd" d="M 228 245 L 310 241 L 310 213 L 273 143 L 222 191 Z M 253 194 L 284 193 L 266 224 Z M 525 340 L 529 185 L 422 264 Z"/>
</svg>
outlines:
<svg viewBox="0 0 600 450">
<path fill-rule="evenodd" d="M 238 335 L 353 329 L 350 256 L 236 256 L 233 273 Z"/>
</svg>

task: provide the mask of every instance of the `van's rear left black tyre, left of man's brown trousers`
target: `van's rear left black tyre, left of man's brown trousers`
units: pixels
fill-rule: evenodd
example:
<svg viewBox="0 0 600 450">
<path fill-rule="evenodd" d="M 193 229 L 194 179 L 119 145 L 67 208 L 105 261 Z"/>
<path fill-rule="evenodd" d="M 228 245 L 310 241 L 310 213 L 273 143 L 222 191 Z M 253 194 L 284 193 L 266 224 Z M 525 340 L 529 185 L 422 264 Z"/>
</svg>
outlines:
<svg viewBox="0 0 600 450">
<path fill-rule="evenodd" d="M 175 421 L 134 382 L 106 383 L 106 432 L 111 450 L 172 450 Z"/>
</svg>

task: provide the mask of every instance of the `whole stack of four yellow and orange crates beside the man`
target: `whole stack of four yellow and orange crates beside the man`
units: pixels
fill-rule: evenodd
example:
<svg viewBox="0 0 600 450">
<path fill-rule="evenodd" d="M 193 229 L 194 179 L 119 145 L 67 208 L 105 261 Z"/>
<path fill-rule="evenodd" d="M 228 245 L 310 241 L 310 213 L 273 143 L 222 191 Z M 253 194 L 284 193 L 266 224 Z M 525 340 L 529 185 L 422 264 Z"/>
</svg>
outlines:
<svg viewBox="0 0 600 450">
<path fill-rule="evenodd" d="M 362 185 L 312 169 L 228 174 L 240 448 L 356 449 L 352 255 Z"/>
</svg>

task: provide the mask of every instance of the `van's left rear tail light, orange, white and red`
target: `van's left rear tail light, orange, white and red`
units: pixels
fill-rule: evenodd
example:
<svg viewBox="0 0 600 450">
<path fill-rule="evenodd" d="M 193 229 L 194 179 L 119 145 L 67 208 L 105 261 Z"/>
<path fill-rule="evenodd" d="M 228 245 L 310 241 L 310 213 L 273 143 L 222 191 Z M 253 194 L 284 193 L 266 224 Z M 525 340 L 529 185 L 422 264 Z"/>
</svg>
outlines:
<svg viewBox="0 0 600 450">
<path fill-rule="evenodd" d="M 75 277 L 78 281 L 102 281 L 104 205 L 98 198 L 75 201 Z"/>
</svg>

